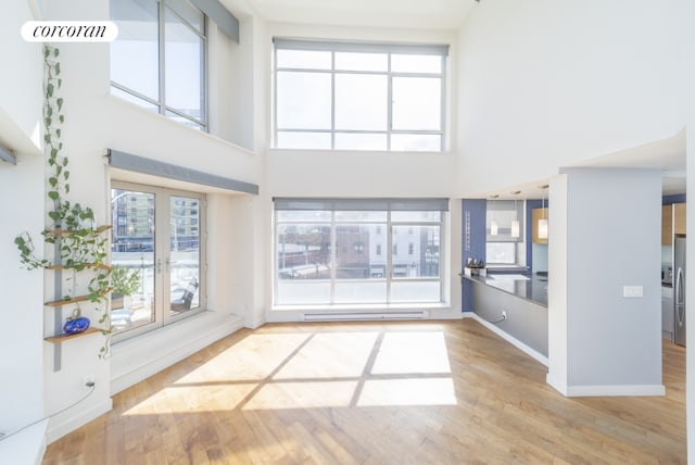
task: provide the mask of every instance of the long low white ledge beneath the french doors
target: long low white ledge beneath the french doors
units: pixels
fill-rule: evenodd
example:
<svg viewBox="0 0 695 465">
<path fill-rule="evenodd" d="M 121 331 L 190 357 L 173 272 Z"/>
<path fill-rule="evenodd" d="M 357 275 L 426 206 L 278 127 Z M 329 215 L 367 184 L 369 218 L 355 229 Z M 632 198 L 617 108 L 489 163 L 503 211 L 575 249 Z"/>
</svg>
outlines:
<svg viewBox="0 0 695 465">
<path fill-rule="evenodd" d="M 111 352 L 111 394 L 172 366 L 243 327 L 236 315 L 201 314 L 115 344 Z M 138 362 L 134 365 L 134 362 Z"/>
</svg>

